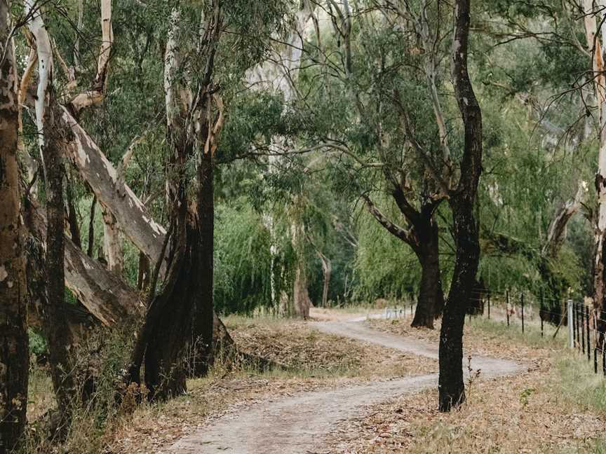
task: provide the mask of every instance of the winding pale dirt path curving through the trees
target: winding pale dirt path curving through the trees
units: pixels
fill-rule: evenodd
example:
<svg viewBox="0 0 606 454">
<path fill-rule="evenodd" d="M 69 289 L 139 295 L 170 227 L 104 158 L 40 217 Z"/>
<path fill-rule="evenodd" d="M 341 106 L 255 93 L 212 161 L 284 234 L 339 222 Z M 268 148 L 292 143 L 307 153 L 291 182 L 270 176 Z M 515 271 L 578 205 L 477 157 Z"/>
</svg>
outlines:
<svg viewBox="0 0 606 454">
<path fill-rule="evenodd" d="M 431 358 L 438 350 L 414 338 L 393 336 L 365 328 L 359 322 L 321 322 L 314 326 L 325 333 L 376 343 L 403 352 Z M 476 357 L 472 368 L 482 376 L 504 376 L 523 371 L 518 363 Z M 215 420 L 177 441 L 163 454 L 309 454 L 322 452 L 323 438 L 339 421 L 354 418 L 365 406 L 401 394 L 436 386 L 438 374 L 379 381 L 367 385 L 302 392 L 292 397 L 264 401 L 234 415 Z"/>
</svg>

